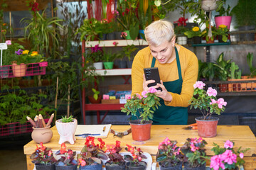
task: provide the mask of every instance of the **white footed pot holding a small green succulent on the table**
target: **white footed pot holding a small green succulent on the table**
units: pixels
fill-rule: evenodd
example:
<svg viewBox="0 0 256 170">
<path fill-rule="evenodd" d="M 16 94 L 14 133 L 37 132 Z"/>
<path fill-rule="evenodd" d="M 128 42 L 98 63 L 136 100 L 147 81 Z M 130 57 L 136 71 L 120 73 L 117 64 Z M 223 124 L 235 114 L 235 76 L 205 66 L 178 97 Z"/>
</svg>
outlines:
<svg viewBox="0 0 256 170">
<path fill-rule="evenodd" d="M 74 121 L 70 123 L 62 123 L 60 120 L 56 120 L 55 125 L 60 135 L 58 142 L 60 145 L 66 141 L 70 142 L 71 145 L 75 144 L 75 130 L 78 125 L 78 120 L 74 119 Z"/>
</svg>

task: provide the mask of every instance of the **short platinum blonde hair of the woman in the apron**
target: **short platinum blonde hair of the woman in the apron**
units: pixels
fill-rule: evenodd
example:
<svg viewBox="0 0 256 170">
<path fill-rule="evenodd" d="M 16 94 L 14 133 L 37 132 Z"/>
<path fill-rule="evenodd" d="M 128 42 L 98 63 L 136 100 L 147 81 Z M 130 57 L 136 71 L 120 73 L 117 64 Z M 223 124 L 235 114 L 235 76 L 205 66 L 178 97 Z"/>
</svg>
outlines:
<svg viewBox="0 0 256 170">
<path fill-rule="evenodd" d="M 169 21 L 158 20 L 151 23 L 144 30 L 146 41 L 154 46 L 161 45 L 165 40 L 171 42 L 174 35 L 174 26 Z"/>
</svg>

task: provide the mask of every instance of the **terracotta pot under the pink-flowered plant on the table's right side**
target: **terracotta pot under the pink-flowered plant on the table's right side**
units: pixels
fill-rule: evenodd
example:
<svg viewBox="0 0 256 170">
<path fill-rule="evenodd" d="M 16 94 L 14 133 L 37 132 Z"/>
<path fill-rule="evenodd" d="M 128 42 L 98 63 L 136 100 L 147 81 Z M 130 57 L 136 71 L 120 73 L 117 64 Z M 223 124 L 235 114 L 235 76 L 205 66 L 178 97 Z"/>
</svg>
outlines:
<svg viewBox="0 0 256 170">
<path fill-rule="evenodd" d="M 219 118 L 211 117 L 210 120 L 203 120 L 203 117 L 196 118 L 198 125 L 198 136 L 215 137 L 217 135 L 217 125 Z"/>
</svg>

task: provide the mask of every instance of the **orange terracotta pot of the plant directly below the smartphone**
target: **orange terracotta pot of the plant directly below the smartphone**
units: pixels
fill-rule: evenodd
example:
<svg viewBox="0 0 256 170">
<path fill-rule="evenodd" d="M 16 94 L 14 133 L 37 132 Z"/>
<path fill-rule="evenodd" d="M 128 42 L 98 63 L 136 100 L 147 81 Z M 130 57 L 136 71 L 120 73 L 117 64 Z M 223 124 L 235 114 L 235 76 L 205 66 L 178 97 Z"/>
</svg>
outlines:
<svg viewBox="0 0 256 170">
<path fill-rule="evenodd" d="M 132 140 L 144 141 L 150 139 L 152 121 L 149 120 L 144 124 L 140 124 L 141 120 L 131 120 L 129 124 L 132 128 Z"/>
</svg>

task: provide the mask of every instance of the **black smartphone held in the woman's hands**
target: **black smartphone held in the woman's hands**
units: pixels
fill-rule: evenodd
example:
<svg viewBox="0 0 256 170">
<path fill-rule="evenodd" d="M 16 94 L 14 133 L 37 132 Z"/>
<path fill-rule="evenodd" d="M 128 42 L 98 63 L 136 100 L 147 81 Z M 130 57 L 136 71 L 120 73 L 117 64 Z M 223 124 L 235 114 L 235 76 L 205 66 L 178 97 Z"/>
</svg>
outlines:
<svg viewBox="0 0 256 170">
<path fill-rule="evenodd" d="M 148 84 L 148 87 L 156 86 L 156 84 L 161 84 L 160 77 L 159 77 L 159 71 L 157 67 L 151 67 L 151 68 L 144 68 L 144 74 L 146 80 L 154 80 L 154 83 Z M 162 91 L 161 87 L 156 88 L 156 90 Z"/>
</svg>

